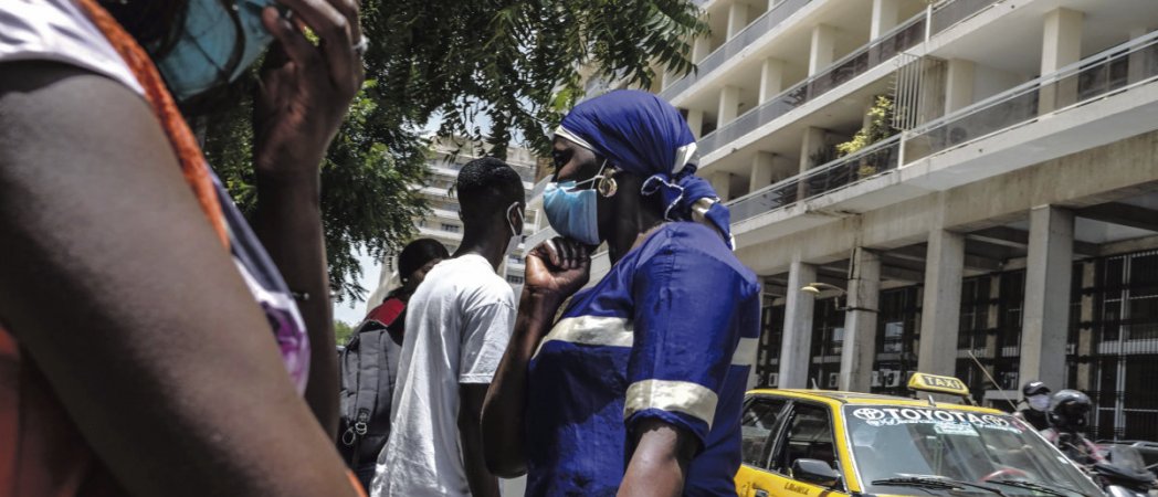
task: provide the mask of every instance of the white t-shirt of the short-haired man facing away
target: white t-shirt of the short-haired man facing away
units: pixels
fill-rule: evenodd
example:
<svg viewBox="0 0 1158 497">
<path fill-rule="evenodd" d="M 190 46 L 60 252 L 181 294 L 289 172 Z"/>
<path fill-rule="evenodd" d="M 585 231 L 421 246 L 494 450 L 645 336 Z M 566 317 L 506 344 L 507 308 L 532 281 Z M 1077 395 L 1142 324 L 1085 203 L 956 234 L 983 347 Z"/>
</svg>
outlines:
<svg viewBox="0 0 1158 497">
<path fill-rule="evenodd" d="M 406 305 L 390 439 L 373 497 L 469 496 L 459 443 L 459 385 L 490 383 L 511 339 L 511 285 L 486 260 L 439 263 Z"/>
</svg>

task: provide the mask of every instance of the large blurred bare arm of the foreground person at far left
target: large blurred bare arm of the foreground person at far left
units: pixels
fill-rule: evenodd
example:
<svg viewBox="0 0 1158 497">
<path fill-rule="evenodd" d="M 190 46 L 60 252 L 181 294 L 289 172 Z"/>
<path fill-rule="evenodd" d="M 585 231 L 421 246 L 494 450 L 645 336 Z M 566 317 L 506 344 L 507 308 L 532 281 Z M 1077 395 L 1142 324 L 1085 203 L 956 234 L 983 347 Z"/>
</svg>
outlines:
<svg viewBox="0 0 1158 497">
<path fill-rule="evenodd" d="M 0 321 L 129 495 L 356 495 L 140 96 L 0 64 Z"/>
</svg>

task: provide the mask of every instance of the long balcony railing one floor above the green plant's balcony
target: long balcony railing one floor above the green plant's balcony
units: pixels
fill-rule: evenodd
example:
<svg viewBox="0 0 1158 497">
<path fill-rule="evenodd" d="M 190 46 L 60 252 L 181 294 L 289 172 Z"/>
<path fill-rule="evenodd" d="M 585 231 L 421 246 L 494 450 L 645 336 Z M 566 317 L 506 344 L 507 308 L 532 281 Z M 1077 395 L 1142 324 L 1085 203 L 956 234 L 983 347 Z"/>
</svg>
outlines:
<svg viewBox="0 0 1158 497">
<path fill-rule="evenodd" d="M 804 80 L 768 102 L 748 110 L 735 120 L 708 133 L 696 142 L 699 154 L 712 153 L 793 109 L 812 102 L 881 63 L 891 60 L 897 53 L 913 47 L 924 38 L 925 14 L 921 14 L 845 56 L 821 73 Z"/>
</svg>

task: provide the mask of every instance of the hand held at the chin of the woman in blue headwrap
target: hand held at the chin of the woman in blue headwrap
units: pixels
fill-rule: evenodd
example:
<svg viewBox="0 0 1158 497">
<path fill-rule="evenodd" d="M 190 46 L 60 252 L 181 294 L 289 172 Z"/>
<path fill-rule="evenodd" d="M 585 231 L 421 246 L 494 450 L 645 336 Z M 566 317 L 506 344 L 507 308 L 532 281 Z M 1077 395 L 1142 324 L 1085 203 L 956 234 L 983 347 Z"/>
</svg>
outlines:
<svg viewBox="0 0 1158 497">
<path fill-rule="evenodd" d="M 571 297 L 591 278 L 589 249 L 557 236 L 527 253 L 525 288 L 558 299 Z"/>
</svg>

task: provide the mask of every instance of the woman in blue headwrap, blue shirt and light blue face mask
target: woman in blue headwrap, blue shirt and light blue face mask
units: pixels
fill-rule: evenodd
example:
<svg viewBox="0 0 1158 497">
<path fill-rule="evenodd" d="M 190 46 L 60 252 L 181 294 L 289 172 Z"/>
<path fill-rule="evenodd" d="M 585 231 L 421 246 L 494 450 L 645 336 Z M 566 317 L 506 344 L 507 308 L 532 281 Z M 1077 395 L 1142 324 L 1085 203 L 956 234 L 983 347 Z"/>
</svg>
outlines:
<svg viewBox="0 0 1158 497">
<path fill-rule="evenodd" d="M 643 92 L 556 130 L 543 205 L 563 236 L 527 256 L 483 411 L 491 470 L 527 472 L 527 495 L 735 495 L 760 285 L 694 156 L 679 111 Z M 604 241 L 610 271 L 579 291 Z"/>
</svg>

